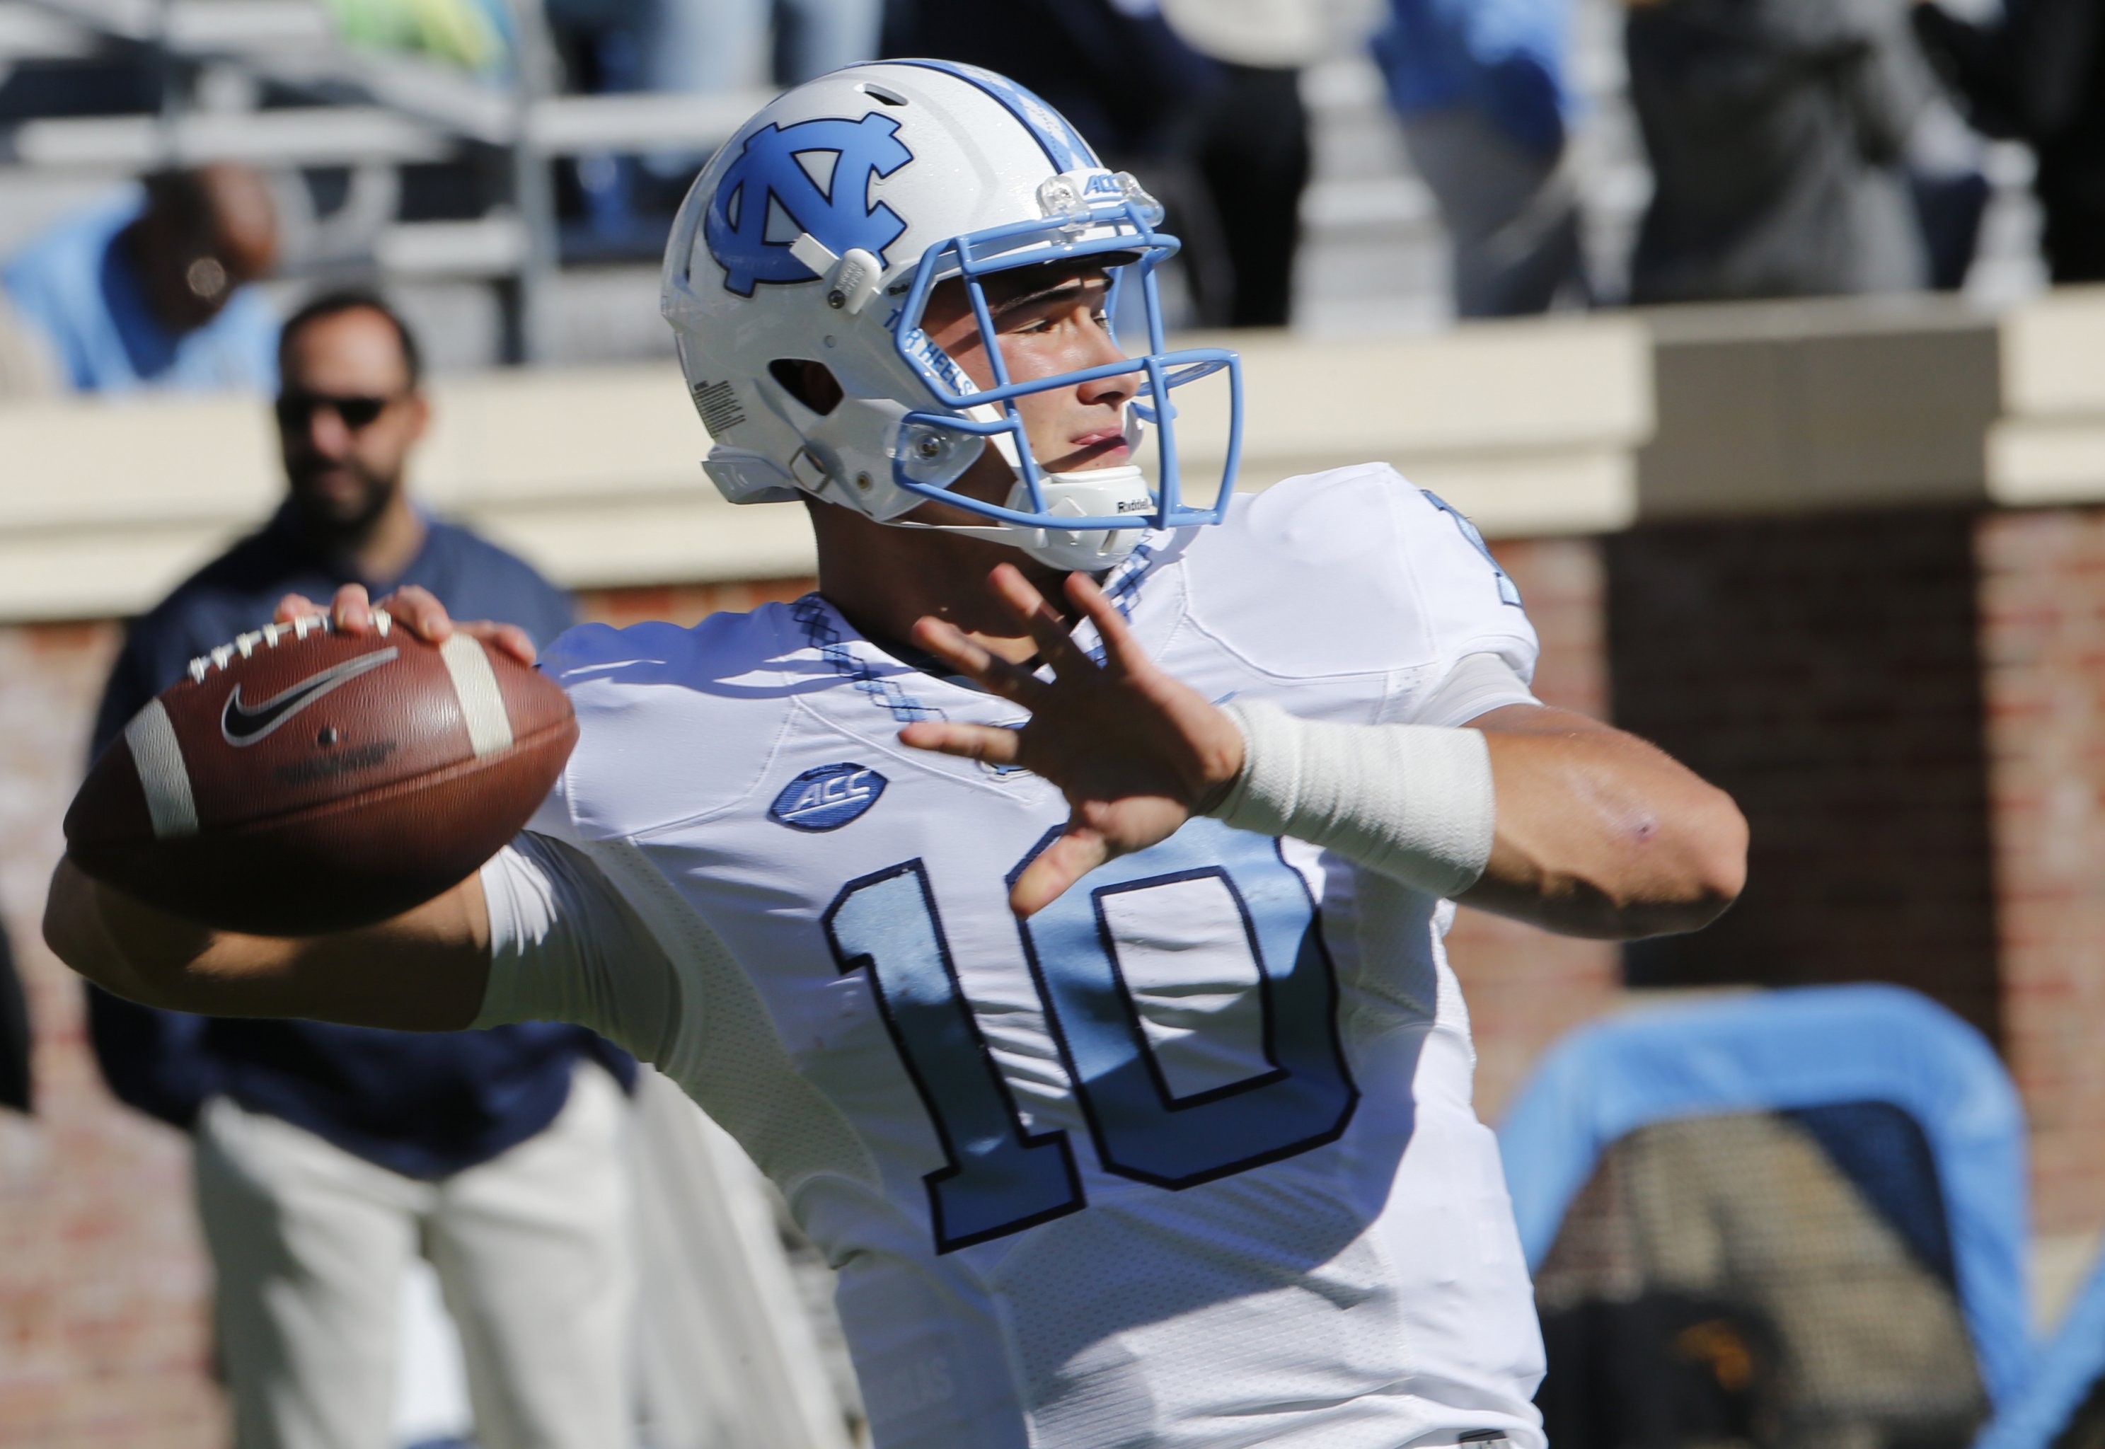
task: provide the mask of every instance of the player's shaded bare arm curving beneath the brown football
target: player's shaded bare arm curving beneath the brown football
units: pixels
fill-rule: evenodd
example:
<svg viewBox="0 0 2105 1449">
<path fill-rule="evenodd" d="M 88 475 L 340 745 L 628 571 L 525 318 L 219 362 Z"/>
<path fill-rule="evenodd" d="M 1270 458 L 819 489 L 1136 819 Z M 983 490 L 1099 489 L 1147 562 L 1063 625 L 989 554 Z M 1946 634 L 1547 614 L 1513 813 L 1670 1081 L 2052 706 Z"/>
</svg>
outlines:
<svg viewBox="0 0 2105 1449">
<path fill-rule="evenodd" d="M 488 916 L 474 876 L 377 927 L 278 939 L 181 920 L 61 861 L 44 939 L 107 992 L 217 1017 L 455 1030 L 474 1021 L 488 977 Z"/>
</svg>

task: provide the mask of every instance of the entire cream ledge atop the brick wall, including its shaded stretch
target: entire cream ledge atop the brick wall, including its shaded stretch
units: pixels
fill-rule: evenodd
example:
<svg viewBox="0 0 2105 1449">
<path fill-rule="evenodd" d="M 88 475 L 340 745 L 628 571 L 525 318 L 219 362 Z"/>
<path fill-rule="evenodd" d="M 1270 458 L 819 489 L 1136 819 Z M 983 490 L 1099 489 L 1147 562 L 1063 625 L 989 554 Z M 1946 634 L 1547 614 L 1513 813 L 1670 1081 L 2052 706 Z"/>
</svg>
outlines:
<svg viewBox="0 0 2105 1449">
<path fill-rule="evenodd" d="M 1495 537 L 1823 510 L 2105 503 L 2105 289 L 1695 307 L 1436 337 L 1221 341 L 1240 482 L 1396 463 Z M 432 385 L 417 495 L 573 588 L 808 573 L 800 508 L 724 503 L 669 364 Z M 1177 392 L 1191 489 L 1225 379 Z M 282 497 L 250 398 L 0 404 L 0 619 L 143 609 Z"/>
</svg>

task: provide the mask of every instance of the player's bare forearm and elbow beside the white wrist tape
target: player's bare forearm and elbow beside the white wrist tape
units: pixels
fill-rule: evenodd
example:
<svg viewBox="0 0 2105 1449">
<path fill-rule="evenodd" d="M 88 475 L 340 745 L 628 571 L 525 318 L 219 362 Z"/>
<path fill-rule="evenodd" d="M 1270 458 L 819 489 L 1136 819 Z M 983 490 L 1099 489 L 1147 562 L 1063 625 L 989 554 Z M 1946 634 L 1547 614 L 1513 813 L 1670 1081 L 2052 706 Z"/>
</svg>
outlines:
<svg viewBox="0 0 2105 1449">
<path fill-rule="evenodd" d="M 1501 729 L 1497 716 L 1524 718 Z M 1497 828 L 1459 899 L 1564 935 L 1697 931 L 1747 876 L 1747 823 L 1722 790 L 1652 746 L 1583 716 L 1482 720 Z"/>
</svg>

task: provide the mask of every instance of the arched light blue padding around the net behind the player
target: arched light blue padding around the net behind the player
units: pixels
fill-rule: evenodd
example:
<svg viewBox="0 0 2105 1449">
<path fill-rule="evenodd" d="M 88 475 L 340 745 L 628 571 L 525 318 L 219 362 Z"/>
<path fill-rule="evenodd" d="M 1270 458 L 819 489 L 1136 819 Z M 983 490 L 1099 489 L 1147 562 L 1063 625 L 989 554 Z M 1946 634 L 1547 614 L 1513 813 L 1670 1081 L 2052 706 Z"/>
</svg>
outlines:
<svg viewBox="0 0 2105 1449">
<path fill-rule="evenodd" d="M 1848 1101 L 1890 1104 L 1922 1127 L 1981 1379 L 2008 1403 L 2033 1363 L 2023 1112 L 1979 1032 L 1894 986 L 1661 1007 L 1564 1038 L 1499 1129 L 1528 1266 L 1549 1253 L 1600 1154 L 1638 1127 Z"/>
</svg>

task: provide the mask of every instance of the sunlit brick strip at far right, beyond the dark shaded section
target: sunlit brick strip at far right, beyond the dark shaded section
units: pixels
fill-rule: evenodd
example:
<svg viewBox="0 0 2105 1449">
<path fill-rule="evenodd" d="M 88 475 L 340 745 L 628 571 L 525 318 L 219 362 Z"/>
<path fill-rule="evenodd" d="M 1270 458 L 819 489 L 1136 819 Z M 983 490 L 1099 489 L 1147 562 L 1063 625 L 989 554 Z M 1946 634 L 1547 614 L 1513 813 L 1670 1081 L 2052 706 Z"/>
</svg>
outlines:
<svg viewBox="0 0 2105 1449">
<path fill-rule="evenodd" d="M 2004 1055 L 2042 1232 L 2105 1224 L 2105 512 L 1977 531 Z"/>
</svg>

